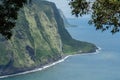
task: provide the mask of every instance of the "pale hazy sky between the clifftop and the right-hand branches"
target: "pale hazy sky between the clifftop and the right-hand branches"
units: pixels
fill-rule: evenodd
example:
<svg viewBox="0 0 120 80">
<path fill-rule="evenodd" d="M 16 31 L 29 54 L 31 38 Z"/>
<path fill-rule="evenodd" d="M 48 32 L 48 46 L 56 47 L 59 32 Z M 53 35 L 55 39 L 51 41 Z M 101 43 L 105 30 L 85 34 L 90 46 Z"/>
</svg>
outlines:
<svg viewBox="0 0 120 80">
<path fill-rule="evenodd" d="M 68 5 L 69 3 L 68 0 L 48 0 L 48 1 L 54 2 L 56 6 L 63 11 L 64 15 L 67 18 L 74 17 L 71 15 L 71 9 L 70 6 Z"/>
</svg>

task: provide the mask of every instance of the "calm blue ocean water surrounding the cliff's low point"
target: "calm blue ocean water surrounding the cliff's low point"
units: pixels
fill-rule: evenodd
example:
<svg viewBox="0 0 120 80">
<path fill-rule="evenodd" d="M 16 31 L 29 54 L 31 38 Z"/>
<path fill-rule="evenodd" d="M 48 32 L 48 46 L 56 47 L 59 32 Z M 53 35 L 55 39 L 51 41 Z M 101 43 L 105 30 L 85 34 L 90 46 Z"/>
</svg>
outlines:
<svg viewBox="0 0 120 80">
<path fill-rule="evenodd" d="M 88 18 L 68 19 L 73 38 L 102 48 L 98 54 L 81 54 L 45 70 L 0 80 L 120 80 L 120 33 L 96 31 Z"/>
</svg>

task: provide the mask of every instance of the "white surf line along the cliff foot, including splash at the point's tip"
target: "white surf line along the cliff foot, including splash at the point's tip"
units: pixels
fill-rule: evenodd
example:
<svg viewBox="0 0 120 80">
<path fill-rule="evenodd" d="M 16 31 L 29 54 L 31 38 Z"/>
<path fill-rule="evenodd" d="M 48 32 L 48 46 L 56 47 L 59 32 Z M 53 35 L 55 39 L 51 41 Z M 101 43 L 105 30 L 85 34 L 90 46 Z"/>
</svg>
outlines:
<svg viewBox="0 0 120 80">
<path fill-rule="evenodd" d="M 96 49 L 96 51 L 93 52 L 93 53 L 96 53 L 96 54 L 99 53 L 99 51 L 101 50 L 101 48 L 100 48 L 100 47 L 97 47 L 97 48 L 98 48 L 98 49 Z M 83 53 L 83 54 L 85 54 L 85 53 Z M 77 54 L 74 54 L 74 55 L 77 55 Z M 7 77 L 13 77 L 13 76 L 19 76 L 19 75 L 23 75 L 23 74 L 34 73 L 34 72 L 38 72 L 38 71 L 42 71 L 42 70 L 47 69 L 47 68 L 49 68 L 49 67 L 52 67 L 52 66 L 54 66 L 54 65 L 56 65 L 56 64 L 58 64 L 58 63 L 61 63 L 61 62 L 65 61 L 67 58 L 69 58 L 69 57 L 71 57 L 71 56 L 74 56 L 74 55 L 67 55 L 67 56 L 65 56 L 64 58 L 62 58 L 62 59 L 60 59 L 60 60 L 58 60 L 58 61 L 55 61 L 55 62 L 53 62 L 53 63 L 50 63 L 50 64 L 47 64 L 47 65 L 43 66 L 42 68 L 36 68 L 36 69 L 30 70 L 30 71 L 25 71 L 25 72 L 16 73 L 16 74 L 0 76 L 0 79 L 2 79 L 2 78 L 7 78 Z M 80 55 L 81 55 L 81 54 L 80 54 Z"/>
</svg>

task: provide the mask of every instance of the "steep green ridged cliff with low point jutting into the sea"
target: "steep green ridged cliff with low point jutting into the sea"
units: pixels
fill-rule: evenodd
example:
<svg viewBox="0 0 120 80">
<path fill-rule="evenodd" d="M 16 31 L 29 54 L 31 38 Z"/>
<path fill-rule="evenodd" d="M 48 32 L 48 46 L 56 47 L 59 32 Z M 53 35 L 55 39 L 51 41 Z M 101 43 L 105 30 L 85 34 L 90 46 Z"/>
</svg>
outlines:
<svg viewBox="0 0 120 80">
<path fill-rule="evenodd" d="M 76 51 L 93 52 L 93 44 L 72 39 L 54 3 L 33 1 L 19 11 L 13 37 L 0 37 L 0 75 L 41 67 Z"/>
</svg>

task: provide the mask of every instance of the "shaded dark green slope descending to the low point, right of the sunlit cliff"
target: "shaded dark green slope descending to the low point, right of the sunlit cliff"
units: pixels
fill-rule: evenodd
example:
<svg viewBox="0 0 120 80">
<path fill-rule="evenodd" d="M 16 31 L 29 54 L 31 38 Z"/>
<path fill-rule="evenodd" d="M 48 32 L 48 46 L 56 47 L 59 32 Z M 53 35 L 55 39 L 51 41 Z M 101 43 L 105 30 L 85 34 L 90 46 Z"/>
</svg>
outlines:
<svg viewBox="0 0 120 80">
<path fill-rule="evenodd" d="M 55 19 L 58 24 L 58 31 L 63 42 L 63 52 L 65 54 L 73 54 L 74 52 L 94 52 L 97 48 L 94 44 L 88 42 L 82 42 L 75 40 L 71 37 L 68 31 L 65 29 L 63 19 L 60 17 L 60 13 L 55 7 L 55 4 L 52 4 L 54 9 Z"/>
</svg>

